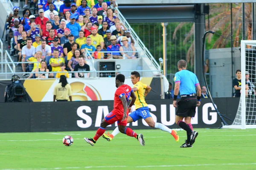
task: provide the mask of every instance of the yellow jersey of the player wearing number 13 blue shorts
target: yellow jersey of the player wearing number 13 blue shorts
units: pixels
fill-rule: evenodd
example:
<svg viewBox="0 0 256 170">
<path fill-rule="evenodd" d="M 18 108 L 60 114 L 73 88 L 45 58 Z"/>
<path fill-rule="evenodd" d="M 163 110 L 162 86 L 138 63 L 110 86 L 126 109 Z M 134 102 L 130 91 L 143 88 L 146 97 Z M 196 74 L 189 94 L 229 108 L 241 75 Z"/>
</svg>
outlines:
<svg viewBox="0 0 256 170">
<path fill-rule="evenodd" d="M 144 97 L 144 92 L 145 92 L 145 88 L 147 87 L 146 84 L 143 84 L 142 82 L 137 82 L 134 85 L 134 88 L 138 88 L 138 91 L 135 91 L 135 95 L 136 95 L 136 101 L 135 101 L 135 109 L 138 108 L 143 108 L 148 106 L 148 104 L 145 102 L 145 97 Z"/>
</svg>

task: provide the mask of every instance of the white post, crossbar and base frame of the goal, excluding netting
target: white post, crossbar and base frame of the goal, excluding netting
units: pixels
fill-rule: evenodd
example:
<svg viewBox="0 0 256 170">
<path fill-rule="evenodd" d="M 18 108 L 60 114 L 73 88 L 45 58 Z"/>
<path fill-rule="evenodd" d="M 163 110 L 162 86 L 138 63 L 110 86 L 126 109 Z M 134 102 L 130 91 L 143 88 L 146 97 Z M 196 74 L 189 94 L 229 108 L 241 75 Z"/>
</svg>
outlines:
<svg viewBox="0 0 256 170">
<path fill-rule="evenodd" d="M 235 123 L 236 119 L 234 120 L 233 124 L 239 125 L 224 125 L 222 128 L 228 129 L 247 129 L 247 128 L 256 128 L 256 125 L 246 125 L 246 97 L 245 97 L 245 59 L 246 59 L 246 45 L 256 45 L 256 40 L 241 40 L 241 96 L 239 101 L 238 112 L 236 113 L 237 116 L 240 117 L 241 109 L 241 122 Z M 256 95 L 256 94 L 255 94 Z"/>
</svg>

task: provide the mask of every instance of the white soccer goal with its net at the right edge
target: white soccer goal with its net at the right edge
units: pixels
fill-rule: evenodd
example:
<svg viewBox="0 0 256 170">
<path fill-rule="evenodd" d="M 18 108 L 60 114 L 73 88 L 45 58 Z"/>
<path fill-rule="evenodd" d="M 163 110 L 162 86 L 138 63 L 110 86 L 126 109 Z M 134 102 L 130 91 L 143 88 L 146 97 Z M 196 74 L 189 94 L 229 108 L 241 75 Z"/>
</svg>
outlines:
<svg viewBox="0 0 256 170">
<path fill-rule="evenodd" d="M 223 128 L 256 128 L 256 40 L 241 41 L 241 96 L 236 118 Z"/>
</svg>

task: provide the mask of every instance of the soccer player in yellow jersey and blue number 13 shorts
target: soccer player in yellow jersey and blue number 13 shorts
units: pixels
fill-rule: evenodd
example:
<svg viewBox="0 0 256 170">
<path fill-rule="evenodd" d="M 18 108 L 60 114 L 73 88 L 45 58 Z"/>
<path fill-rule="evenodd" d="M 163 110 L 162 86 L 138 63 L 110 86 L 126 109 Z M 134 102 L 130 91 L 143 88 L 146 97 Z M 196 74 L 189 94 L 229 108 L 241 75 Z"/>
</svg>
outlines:
<svg viewBox="0 0 256 170">
<path fill-rule="evenodd" d="M 144 119 L 150 127 L 155 127 L 157 129 L 171 133 L 171 135 L 175 138 L 176 142 L 179 142 L 179 136 L 176 130 L 169 129 L 166 125 L 163 125 L 162 123 L 154 122 L 153 118 L 151 117 L 148 110 L 148 104 L 145 102 L 145 96 L 148 95 L 151 87 L 140 82 L 140 73 L 138 73 L 137 71 L 131 72 L 131 82 L 132 84 L 134 84 L 134 88 L 132 88 L 132 90 L 134 91 L 137 98 L 134 103 L 135 111 L 129 114 L 127 118 L 127 123 L 136 122 L 139 119 Z M 131 108 L 128 109 L 129 112 L 131 112 Z M 111 141 L 113 137 L 116 136 L 118 133 L 119 130 L 118 127 L 116 127 L 113 133 L 108 135 L 104 133 L 102 136 L 108 141 Z"/>
</svg>

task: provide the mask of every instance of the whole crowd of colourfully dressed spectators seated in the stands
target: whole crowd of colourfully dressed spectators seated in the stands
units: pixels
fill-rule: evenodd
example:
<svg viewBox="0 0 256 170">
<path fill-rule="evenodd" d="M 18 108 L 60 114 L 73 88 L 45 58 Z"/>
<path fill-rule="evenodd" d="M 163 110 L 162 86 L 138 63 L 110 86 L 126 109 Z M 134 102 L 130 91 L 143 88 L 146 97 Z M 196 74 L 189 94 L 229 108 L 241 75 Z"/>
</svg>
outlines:
<svg viewBox="0 0 256 170">
<path fill-rule="evenodd" d="M 31 72 L 23 76 L 58 78 L 69 77 L 58 71 L 81 71 L 72 77 L 89 77 L 90 74 L 82 72 L 90 71 L 87 65 L 90 55 L 94 59 L 137 59 L 131 32 L 110 6 L 116 5 L 115 0 L 97 3 L 94 0 L 34 0 L 34 3 L 38 4 L 38 14 L 26 8 L 26 0 L 23 17 L 18 16 L 20 8 L 15 6 L 6 20 L 11 55 L 17 54 L 19 62 L 38 62 L 22 63 L 23 72 Z M 49 71 L 56 73 L 46 74 Z"/>
</svg>

